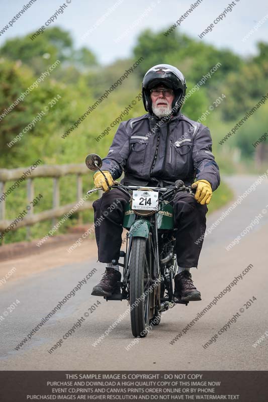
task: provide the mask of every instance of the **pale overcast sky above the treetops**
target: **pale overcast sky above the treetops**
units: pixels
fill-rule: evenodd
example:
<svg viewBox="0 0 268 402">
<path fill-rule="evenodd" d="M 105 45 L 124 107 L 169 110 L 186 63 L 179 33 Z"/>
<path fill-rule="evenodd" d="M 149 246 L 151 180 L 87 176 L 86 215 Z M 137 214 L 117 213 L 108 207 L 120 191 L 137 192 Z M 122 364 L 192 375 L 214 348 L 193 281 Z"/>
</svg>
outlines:
<svg viewBox="0 0 268 402">
<path fill-rule="evenodd" d="M 0 32 L 28 3 L 29 0 L 0 0 Z M 49 26 L 60 26 L 70 31 L 76 47 L 87 46 L 97 55 L 100 62 L 107 64 L 117 58 L 130 56 L 136 38 L 142 30 L 167 30 L 193 3 L 194 0 L 65 0 L 67 7 L 63 14 L 59 14 L 57 20 Z M 203 0 L 176 30 L 180 29 L 199 39 L 198 35 L 213 23 L 230 3 L 232 2 L 225 0 Z M 243 56 L 254 54 L 257 41 L 268 41 L 268 3 L 264 0 L 234 0 L 233 3 L 235 6 L 232 11 L 226 13 L 225 18 L 222 17 L 223 20 L 202 40 L 216 47 L 230 48 Z M 37 31 L 63 4 L 58 0 L 36 0 L 12 27 L 1 34 L 0 45 L 8 38 Z M 98 22 L 101 18 L 103 21 Z M 261 26 L 242 42 L 244 36 L 254 29 L 261 19 Z M 88 30 L 92 32 L 85 35 Z M 127 30 L 129 31 L 126 32 Z"/>
</svg>

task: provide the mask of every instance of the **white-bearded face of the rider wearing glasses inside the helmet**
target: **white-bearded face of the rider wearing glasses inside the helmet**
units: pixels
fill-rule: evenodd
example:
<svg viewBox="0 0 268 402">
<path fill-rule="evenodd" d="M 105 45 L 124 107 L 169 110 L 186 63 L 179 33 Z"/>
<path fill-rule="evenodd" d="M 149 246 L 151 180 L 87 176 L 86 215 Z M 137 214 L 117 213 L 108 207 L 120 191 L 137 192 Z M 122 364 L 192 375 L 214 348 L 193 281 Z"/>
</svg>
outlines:
<svg viewBox="0 0 268 402">
<path fill-rule="evenodd" d="M 167 92 L 165 93 L 160 89 L 166 89 Z M 160 90 L 159 94 L 154 94 L 154 91 Z M 165 117 L 171 113 L 171 105 L 174 99 L 174 93 L 172 89 L 168 88 L 165 85 L 159 84 L 155 86 L 151 90 L 151 99 L 152 99 L 152 111 L 159 119 Z"/>
</svg>

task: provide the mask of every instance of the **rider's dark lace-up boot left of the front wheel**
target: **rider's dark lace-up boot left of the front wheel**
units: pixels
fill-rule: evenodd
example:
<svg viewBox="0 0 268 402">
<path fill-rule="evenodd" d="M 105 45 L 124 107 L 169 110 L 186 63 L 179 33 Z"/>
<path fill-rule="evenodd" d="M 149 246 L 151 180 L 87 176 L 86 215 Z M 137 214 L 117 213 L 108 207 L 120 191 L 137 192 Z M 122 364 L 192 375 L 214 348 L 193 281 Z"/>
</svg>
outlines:
<svg viewBox="0 0 268 402">
<path fill-rule="evenodd" d="M 112 296 L 119 289 L 118 283 L 121 281 L 121 273 L 117 269 L 107 267 L 102 280 L 92 290 L 93 296 Z M 120 291 L 119 291 L 120 293 Z"/>
</svg>

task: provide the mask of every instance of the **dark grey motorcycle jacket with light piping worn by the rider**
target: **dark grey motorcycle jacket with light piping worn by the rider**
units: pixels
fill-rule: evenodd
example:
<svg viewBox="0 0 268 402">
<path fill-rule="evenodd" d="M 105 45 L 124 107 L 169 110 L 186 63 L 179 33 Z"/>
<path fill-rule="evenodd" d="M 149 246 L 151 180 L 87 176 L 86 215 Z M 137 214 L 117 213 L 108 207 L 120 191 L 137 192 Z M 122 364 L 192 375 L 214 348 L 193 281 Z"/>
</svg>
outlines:
<svg viewBox="0 0 268 402">
<path fill-rule="evenodd" d="M 122 122 L 102 169 L 114 179 L 124 171 L 121 182 L 126 185 L 167 185 L 177 179 L 189 185 L 197 178 L 209 181 L 214 191 L 220 184 L 208 127 L 182 113 L 168 119 L 145 114 Z"/>
</svg>

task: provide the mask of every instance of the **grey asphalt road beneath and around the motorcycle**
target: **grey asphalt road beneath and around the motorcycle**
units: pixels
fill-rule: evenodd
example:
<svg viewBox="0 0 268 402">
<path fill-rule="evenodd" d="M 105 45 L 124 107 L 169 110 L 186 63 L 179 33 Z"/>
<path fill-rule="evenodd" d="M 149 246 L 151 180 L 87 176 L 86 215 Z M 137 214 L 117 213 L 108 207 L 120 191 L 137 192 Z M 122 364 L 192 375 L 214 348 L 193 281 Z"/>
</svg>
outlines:
<svg viewBox="0 0 268 402">
<path fill-rule="evenodd" d="M 234 200 L 256 179 L 257 176 L 226 178 L 235 190 Z M 7 283 L 0 286 L 1 369 L 267 370 L 267 184 L 268 180 L 263 179 L 255 190 L 242 200 L 241 205 L 205 238 L 199 268 L 192 272 L 194 282 L 201 291 L 202 301 L 192 302 L 188 307 L 176 305 L 163 314 L 159 326 L 154 327 L 146 338 L 141 339 L 129 350 L 126 350 L 126 347 L 134 340 L 129 316 L 119 322 L 98 346 L 93 346 L 127 309 L 126 301 L 106 302 L 101 297 L 90 296 L 91 289 L 100 280 L 105 266 L 96 262 L 96 248 L 88 248 L 84 242 L 71 257 L 67 255 L 66 249 L 60 249 L 53 250 L 49 258 L 44 253 L 28 259 L 2 263 L 0 277 L 12 266 L 17 267 L 17 272 Z M 227 208 L 211 215 L 207 227 L 209 228 Z M 267 214 L 264 212 L 265 208 Z M 233 239 L 260 213 L 262 217 L 257 219 L 258 223 L 251 225 L 249 233 L 242 236 L 241 241 L 229 251 L 226 250 Z M 61 266 L 60 258 L 65 261 Z M 54 265 L 51 260 L 55 261 Z M 32 264 L 31 270 L 29 264 Z M 252 264 L 252 267 L 242 279 L 230 287 L 230 291 L 219 298 L 215 306 L 200 315 L 177 341 L 170 344 L 172 339 L 211 303 L 214 296 L 219 295 L 249 264 Z M 34 269 L 35 266 L 41 265 L 42 269 Z M 94 268 L 98 271 L 86 284 L 81 285 L 80 290 L 45 322 L 31 340 L 28 339 L 16 350 L 15 347 L 57 306 L 59 300 Z M 23 272 L 27 274 L 19 274 L 20 269 L 25 269 Z M 249 302 L 244 306 L 249 299 L 253 303 L 250 305 Z M 97 300 L 101 304 L 90 313 L 88 309 L 97 304 Z M 11 310 L 12 304 L 15 306 L 14 310 Z M 234 322 L 233 319 L 233 322 L 230 322 L 237 313 L 237 321 Z M 74 326 L 78 319 L 81 322 L 80 327 L 79 324 Z M 227 325 L 227 330 L 218 334 L 228 322 L 229 328 Z M 74 329 L 72 335 L 62 343 L 59 342 L 60 346 L 49 353 L 48 350 L 71 328 Z M 211 341 L 211 344 L 204 348 L 203 345 L 215 334 L 218 334 L 218 338 L 214 338 L 215 342 Z M 260 338 L 259 345 L 252 346 Z"/>
</svg>

